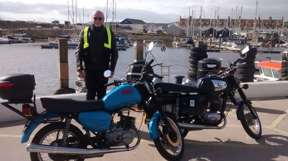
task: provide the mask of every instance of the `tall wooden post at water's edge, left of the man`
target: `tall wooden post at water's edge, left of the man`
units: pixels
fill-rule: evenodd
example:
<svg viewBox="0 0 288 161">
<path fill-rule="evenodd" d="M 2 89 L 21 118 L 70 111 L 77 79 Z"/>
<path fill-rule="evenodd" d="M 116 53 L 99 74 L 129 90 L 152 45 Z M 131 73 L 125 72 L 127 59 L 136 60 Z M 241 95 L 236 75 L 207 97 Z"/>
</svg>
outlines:
<svg viewBox="0 0 288 161">
<path fill-rule="evenodd" d="M 76 93 L 75 89 L 69 88 L 67 38 L 59 38 L 58 48 L 60 89 L 54 91 L 53 94 Z"/>
</svg>

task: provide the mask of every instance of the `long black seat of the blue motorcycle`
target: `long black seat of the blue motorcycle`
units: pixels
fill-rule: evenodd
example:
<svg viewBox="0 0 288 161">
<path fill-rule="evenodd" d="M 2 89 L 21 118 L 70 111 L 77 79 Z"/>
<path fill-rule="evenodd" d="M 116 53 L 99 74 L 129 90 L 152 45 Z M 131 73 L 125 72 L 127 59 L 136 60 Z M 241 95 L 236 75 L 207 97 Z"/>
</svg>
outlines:
<svg viewBox="0 0 288 161">
<path fill-rule="evenodd" d="M 44 109 L 50 112 L 74 113 L 100 110 L 103 100 L 75 100 L 71 98 L 40 98 Z"/>
</svg>

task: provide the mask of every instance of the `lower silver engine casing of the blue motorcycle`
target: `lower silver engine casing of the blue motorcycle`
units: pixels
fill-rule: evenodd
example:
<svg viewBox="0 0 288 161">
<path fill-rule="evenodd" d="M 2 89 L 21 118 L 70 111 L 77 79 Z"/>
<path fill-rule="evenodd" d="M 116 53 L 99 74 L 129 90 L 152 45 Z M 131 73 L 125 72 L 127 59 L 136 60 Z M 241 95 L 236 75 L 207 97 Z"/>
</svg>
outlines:
<svg viewBox="0 0 288 161">
<path fill-rule="evenodd" d="M 130 131 L 110 131 L 106 133 L 106 145 L 125 146 L 133 142 L 134 136 Z"/>
</svg>

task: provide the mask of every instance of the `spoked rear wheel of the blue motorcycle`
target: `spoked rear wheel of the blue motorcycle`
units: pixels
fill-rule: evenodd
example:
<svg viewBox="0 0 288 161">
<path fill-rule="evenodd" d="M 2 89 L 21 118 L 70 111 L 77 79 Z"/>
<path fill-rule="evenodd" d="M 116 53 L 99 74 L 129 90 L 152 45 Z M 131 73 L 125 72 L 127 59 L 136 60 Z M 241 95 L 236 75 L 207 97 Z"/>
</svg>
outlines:
<svg viewBox="0 0 288 161">
<path fill-rule="evenodd" d="M 37 134 L 32 139 L 33 144 L 40 145 L 57 145 L 61 146 L 63 143 L 62 134 L 64 131 L 64 125 L 61 126 L 58 139 L 57 134 L 59 131 L 59 124 L 49 124 L 39 130 Z M 66 147 L 70 148 L 85 148 L 85 146 L 80 147 L 79 138 L 82 138 L 84 135 L 76 126 L 70 125 L 68 132 L 67 145 Z M 30 158 L 32 161 L 44 161 L 44 160 L 84 160 L 78 155 L 64 155 L 64 154 L 48 154 L 48 153 L 36 153 L 30 152 Z"/>
</svg>

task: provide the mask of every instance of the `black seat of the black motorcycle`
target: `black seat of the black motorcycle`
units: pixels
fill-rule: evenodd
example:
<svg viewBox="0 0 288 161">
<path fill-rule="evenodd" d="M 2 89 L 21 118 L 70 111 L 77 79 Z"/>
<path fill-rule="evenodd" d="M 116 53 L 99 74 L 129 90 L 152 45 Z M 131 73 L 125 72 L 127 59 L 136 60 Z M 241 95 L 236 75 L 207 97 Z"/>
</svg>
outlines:
<svg viewBox="0 0 288 161">
<path fill-rule="evenodd" d="M 162 92 L 185 92 L 196 93 L 198 89 L 189 85 L 175 84 L 175 83 L 157 83 L 154 88 L 161 88 Z"/>
</svg>

